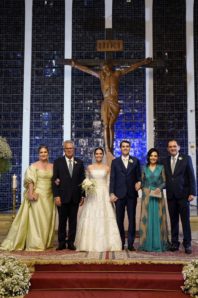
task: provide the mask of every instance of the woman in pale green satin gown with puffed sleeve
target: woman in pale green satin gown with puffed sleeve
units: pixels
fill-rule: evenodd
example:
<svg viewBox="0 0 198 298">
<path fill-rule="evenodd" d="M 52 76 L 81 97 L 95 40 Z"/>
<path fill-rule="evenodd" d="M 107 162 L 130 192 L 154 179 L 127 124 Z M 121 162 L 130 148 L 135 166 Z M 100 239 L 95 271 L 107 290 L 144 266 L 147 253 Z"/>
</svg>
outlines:
<svg viewBox="0 0 198 298">
<path fill-rule="evenodd" d="M 44 251 L 54 244 L 56 204 L 52 193 L 53 164 L 48 162 L 46 146 L 38 149 L 39 161 L 25 173 L 23 202 L 0 250 Z M 58 184 L 59 181 L 56 181 Z M 29 198 L 26 199 L 29 191 Z M 39 198 L 33 195 L 39 194 Z"/>
</svg>

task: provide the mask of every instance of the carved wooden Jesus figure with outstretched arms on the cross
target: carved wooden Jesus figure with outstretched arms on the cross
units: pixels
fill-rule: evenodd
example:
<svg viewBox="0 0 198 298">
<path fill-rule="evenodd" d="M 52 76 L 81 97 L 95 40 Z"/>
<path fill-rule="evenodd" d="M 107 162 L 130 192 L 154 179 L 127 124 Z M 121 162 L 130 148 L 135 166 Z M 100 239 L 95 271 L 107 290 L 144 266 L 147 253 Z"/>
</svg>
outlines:
<svg viewBox="0 0 198 298">
<path fill-rule="evenodd" d="M 94 75 L 99 78 L 101 83 L 102 94 L 104 100 L 100 100 L 97 104 L 101 105 L 101 122 L 104 123 L 104 145 L 105 152 L 113 151 L 113 140 L 114 140 L 114 123 L 118 119 L 118 113 L 121 106 L 118 103 L 118 86 L 119 78 L 125 75 L 127 72 L 137 69 L 138 67 L 149 64 L 152 58 L 146 58 L 145 60 L 132 64 L 122 70 L 111 69 L 111 65 L 108 61 L 104 61 L 100 65 L 100 71 L 96 72 L 87 66 L 76 64 L 73 60 L 69 60 L 68 64 L 77 69 L 87 72 L 90 75 Z"/>
</svg>

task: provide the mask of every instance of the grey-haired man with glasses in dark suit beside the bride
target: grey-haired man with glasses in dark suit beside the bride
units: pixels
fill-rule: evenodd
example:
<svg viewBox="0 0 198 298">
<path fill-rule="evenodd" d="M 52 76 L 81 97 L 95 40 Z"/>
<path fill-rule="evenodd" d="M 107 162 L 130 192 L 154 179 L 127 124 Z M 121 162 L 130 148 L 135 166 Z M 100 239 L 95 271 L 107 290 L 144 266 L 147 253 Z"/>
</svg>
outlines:
<svg viewBox="0 0 198 298">
<path fill-rule="evenodd" d="M 81 193 L 79 184 L 85 179 L 83 161 L 74 157 L 74 142 L 64 142 L 65 155 L 54 161 L 52 190 L 58 210 L 58 242 L 56 250 L 76 250 L 74 240 L 76 237 L 77 213 L 80 206 L 84 204 L 85 192 Z M 59 178 L 60 184 L 56 185 L 55 180 Z M 66 241 L 67 219 L 68 240 Z"/>
</svg>

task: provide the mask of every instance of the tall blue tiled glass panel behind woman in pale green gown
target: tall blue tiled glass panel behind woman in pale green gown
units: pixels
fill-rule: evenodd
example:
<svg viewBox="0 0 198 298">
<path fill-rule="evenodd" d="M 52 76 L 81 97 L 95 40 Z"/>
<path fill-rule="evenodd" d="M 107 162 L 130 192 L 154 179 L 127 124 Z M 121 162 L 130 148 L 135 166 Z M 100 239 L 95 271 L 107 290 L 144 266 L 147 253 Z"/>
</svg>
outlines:
<svg viewBox="0 0 198 298">
<path fill-rule="evenodd" d="M 63 155 L 65 1 L 33 0 L 30 164 L 46 145 L 50 162 Z"/>
</svg>

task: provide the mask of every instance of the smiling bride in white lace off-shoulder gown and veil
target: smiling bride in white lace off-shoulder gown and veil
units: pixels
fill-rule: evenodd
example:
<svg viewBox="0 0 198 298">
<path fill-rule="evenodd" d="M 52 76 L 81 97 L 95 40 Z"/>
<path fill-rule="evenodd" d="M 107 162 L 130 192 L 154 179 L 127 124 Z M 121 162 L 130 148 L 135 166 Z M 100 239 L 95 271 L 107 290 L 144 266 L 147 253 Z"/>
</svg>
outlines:
<svg viewBox="0 0 198 298">
<path fill-rule="evenodd" d="M 104 163 L 103 163 L 104 162 Z M 96 193 L 90 191 L 77 222 L 74 245 L 77 251 L 121 251 L 122 242 L 113 203 L 110 202 L 110 167 L 102 148 L 96 148 L 86 178 L 97 182 Z"/>
</svg>

